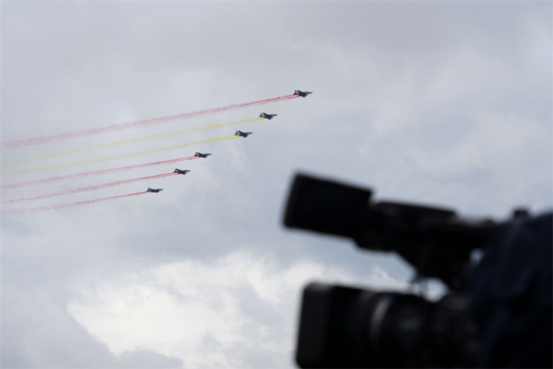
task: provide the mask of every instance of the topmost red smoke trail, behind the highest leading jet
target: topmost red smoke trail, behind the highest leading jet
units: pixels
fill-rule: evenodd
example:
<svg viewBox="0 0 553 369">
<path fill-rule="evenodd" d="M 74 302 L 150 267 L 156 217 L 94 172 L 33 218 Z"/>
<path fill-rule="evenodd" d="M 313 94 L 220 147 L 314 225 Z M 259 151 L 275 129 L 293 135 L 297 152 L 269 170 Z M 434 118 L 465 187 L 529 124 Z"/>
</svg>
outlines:
<svg viewBox="0 0 553 369">
<path fill-rule="evenodd" d="M 102 134 L 102 133 L 107 133 L 107 132 L 120 131 L 121 129 L 126 129 L 126 128 L 144 127 L 144 126 L 147 126 L 147 125 L 160 125 L 162 123 L 167 123 L 170 120 L 189 119 L 189 118 L 194 118 L 194 117 L 198 117 L 198 116 L 205 116 L 207 114 L 220 113 L 221 111 L 227 111 L 227 110 L 231 110 L 231 109 L 241 109 L 241 108 L 244 108 L 244 107 L 253 107 L 253 106 L 256 106 L 256 105 L 268 104 L 270 102 L 277 102 L 277 101 L 281 101 L 281 100 L 290 100 L 292 98 L 297 98 L 297 97 L 298 97 L 297 95 L 286 95 L 286 96 L 280 96 L 278 98 L 268 98 L 268 99 L 263 99 L 263 100 L 243 102 L 241 104 L 227 105 L 226 107 L 214 107 L 212 109 L 191 111 L 190 113 L 176 114 L 174 116 L 162 116 L 160 118 L 137 120 L 135 122 L 121 123 L 121 124 L 118 124 L 118 125 L 108 125 L 106 127 L 82 129 L 81 131 L 73 131 L 73 132 L 64 132 L 64 133 L 60 133 L 60 134 L 53 134 L 51 136 L 21 138 L 21 140 L 6 141 L 6 142 L 3 142 L 3 143 L 0 143 L 0 149 L 8 149 L 8 148 L 12 148 L 12 147 L 21 147 L 21 146 L 28 146 L 28 145 L 39 145 L 41 143 L 47 143 L 47 142 L 59 141 L 59 140 L 66 140 L 68 138 L 77 138 L 77 137 L 82 137 L 82 136 L 92 136 L 94 134 Z"/>
</svg>

